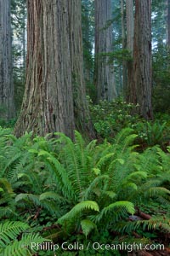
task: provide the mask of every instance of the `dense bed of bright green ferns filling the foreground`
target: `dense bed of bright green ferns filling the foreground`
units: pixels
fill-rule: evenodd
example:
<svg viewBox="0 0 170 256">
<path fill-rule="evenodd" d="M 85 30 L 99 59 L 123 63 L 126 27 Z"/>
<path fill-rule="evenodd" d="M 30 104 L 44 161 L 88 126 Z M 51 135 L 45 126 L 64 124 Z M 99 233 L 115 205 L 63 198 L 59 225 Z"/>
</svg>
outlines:
<svg viewBox="0 0 170 256">
<path fill-rule="evenodd" d="M 42 239 L 39 232 L 57 243 L 84 244 L 134 239 L 133 231 L 139 231 L 144 242 L 157 237 L 158 230 L 168 231 L 169 154 L 158 146 L 136 152 L 137 135 L 131 128 L 116 132 L 111 143 L 86 143 L 77 131 L 75 142 L 55 135 L 17 139 L 10 130 L 0 130 L 0 220 L 8 218 L 16 226 L 14 236 L 2 240 L 8 247 L 3 253 L 20 253 L 22 242 Z M 152 218 L 129 222 L 137 208 Z M 25 229 L 17 225 L 19 220 L 26 230 L 19 229 Z"/>
</svg>

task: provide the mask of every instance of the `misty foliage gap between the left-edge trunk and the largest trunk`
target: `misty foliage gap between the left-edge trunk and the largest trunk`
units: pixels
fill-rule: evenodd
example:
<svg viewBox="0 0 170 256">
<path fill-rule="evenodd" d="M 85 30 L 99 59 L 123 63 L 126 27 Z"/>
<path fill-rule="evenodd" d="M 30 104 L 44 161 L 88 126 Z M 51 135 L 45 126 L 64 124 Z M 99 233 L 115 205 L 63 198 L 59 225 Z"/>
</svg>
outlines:
<svg viewBox="0 0 170 256">
<path fill-rule="evenodd" d="M 26 0 L 11 1 L 14 102 L 20 111 L 26 80 Z"/>
</svg>

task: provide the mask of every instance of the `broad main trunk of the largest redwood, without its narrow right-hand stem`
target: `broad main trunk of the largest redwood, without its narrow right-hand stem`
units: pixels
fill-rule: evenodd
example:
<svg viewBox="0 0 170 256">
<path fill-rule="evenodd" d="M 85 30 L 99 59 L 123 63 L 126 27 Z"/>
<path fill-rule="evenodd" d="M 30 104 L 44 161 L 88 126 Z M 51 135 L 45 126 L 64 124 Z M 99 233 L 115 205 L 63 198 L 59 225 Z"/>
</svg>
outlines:
<svg viewBox="0 0 170 256">
<path fill-rule="evenodd" d="M 27 0 L 26 90 L 16 136 L 61 131 L 74 137 L 67 0 Z"/>
</svg>

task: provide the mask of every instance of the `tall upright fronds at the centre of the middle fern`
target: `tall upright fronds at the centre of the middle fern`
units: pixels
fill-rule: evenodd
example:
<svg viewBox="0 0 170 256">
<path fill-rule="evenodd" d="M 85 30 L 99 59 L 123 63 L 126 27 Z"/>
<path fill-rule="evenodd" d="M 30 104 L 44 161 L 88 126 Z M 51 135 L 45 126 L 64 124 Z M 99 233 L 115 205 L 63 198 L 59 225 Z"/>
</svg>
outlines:
<svg viewBox="0 0 170 256">
<path fill-rule="evenodd" d="M 82 201 L 83 190 L 86 189 L 89 179 L 92 175 L 95 142 L 86 146 L 82 135 L 75 131 L 76 143 L 66 138 L 60 133 L 60 142 L 63 147 L 59 153 L 59 162 L 65 167 L 67 177 L 71 181 L 71 187 L 74 191 L 75 201 Z M 93 147 L 92 147 L 93 145 Z"/>
</svg>

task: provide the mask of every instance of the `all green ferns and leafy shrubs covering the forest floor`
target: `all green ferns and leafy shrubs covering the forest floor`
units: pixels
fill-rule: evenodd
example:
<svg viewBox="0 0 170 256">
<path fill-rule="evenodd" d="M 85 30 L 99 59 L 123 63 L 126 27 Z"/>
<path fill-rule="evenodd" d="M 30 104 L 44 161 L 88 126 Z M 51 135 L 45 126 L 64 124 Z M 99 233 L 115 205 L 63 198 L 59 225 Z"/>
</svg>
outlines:
<svg viewBox="0 0 170 256">
<path fill-rule="evenodd" d="M 122 99 L 91 106 L 91 142 L 77 131 L 72 142 L 62 133 L 16 138 L 1 127 L 0 255 L 127 255 L 97 243 L 167 249 L 170 124 L 133 108 Z"/>
</svg>

